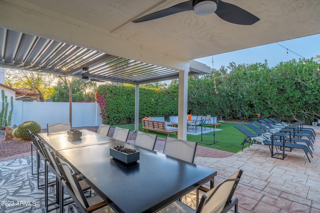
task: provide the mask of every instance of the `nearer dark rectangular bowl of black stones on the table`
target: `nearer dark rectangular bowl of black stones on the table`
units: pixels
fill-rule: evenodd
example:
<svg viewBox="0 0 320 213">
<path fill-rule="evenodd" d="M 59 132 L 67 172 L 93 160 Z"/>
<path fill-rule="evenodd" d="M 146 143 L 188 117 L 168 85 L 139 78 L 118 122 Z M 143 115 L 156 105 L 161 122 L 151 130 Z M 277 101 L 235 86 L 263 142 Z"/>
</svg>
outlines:
<svg viewBox="0 0 320 213">
<path fill-rule="evenodd" d="M 115 146 L 110 148 L 110 156 L 125 164 L 131 164 L 140 159 L 140 152 L 124 146 Z"/>
</svg>

